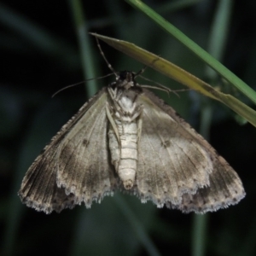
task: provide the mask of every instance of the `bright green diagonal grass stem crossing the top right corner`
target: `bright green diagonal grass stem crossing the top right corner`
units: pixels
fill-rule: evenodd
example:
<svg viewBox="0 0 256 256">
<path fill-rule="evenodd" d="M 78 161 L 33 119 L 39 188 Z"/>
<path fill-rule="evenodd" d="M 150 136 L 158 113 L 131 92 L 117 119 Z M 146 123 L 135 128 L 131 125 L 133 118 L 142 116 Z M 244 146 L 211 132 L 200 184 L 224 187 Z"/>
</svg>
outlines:
<svg viewBox="0 0 256 256">
<path fill-rule="evenodd" d="M 187 48 L 193 51 L 195 55 L 201 58 L 202 61 L 205 61 L 207 65 L 212 67 L 212 69 L 219 73 L 224 79 L 229 81 L 230 84 L 236 86 L 238 90 L 241 90 L 244 95 L 256 103 L 256 92 L 251 87 L 236 77 L 234 73 L 231 73 L 230 70 L 224 67 L 224 65 L 222 65 L 219 61 L 209 55 L 206 50 L 201 49 L 198 44 L 195 44 L 195 42 L 185 36 L 183 32 L 180 32 L 175 26 L 154 12 L 153 9 L 150 9 L 145 3 L 139 0 L 125 0 L 125 2 L 130 3 L 133 7 L 141 10 L 150 19 L 154 20 L 154 22 L 160 25 L 162 29 L 172 34 L 172 36 L 180 43 L 184 44 Z"/>
</svg>

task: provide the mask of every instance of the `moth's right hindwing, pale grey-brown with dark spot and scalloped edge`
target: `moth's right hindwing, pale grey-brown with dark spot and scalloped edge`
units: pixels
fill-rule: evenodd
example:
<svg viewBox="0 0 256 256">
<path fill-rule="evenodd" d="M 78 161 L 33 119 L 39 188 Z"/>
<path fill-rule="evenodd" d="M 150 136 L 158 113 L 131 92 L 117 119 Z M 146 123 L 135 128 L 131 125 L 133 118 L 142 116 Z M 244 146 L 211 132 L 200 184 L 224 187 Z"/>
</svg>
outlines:
<svg viewBox="0 0 256 256">
<path fill-rule="evenodd" d="M 137 189 L 159 207 L 166 201 L 180 204 L 183 193 L 195 194 L 198 188 L 209 184 L 210 156 L 162 109 L 162 101 L 153 93 L 143 90 L 137 102 L 143 105 Z"/>
</svg>

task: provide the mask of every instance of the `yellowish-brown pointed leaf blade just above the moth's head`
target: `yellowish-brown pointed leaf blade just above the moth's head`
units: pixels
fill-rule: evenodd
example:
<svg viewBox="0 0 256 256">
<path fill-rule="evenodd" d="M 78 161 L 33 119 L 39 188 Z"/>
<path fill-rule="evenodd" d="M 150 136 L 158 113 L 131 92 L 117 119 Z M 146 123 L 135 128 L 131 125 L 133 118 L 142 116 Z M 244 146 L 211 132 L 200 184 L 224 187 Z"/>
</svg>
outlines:
<svg viewBox="0 0 256 256">
<path fill-rule="evenodd" d="M 177 82 L 189 86 L 193 90 L 201 92 L 201 94 L 211 97 L 214 100 L 223 102 L 226 106 L 233 111 L 241 115 L 244 119 L 247 119 L 252 125 L 256 126 L 256 112 L 249 108 L 246 104 L 237 100 L 234 96 L 224 94 L 219 90 L 215 90 L 210 84 L 196 78 L 191 73 L 186 72 L 181 67 L 177 67 L 170 61 L 166 61 L 158 55 L 154 55 L 149 51 L 138 47 L 135 44 L 129 42 L 108 38 L 96 33 L 90 33 L 96 38 L 102 39 L 105 43 L 109 44 L 115 49 L 118 49 L 131 56 L 137 61 L 142 62 L 148 67 L 152 67 L 160 73 L 165 74 L 167 77 L 176 80 Z"/>
</svg>

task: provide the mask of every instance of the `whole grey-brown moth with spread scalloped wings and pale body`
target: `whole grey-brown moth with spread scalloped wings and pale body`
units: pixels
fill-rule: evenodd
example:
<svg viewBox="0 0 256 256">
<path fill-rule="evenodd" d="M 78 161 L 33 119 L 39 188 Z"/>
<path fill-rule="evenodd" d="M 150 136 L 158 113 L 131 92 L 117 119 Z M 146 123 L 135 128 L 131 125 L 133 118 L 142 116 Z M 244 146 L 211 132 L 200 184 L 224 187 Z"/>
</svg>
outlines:
<svg viewBox="0 0 256 256">
<path fill-rule="evenodd" d="M 86 102 L 26 172 L 19 195 L 28 207 L 61 212 L 100 202 L 116 189 L 183 212 L 236 204 L 245 192 L 230 165 L 135 73 Z"/>
</svg>

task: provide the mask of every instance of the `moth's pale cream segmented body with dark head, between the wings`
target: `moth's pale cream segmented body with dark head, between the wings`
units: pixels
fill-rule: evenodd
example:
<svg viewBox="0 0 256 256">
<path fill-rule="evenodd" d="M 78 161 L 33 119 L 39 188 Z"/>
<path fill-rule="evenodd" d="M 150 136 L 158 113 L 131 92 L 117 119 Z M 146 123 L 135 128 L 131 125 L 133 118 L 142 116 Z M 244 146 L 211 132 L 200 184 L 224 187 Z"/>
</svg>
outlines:
<svg viewBox="0 0 256 256">
<path fill-rule="evenodd" d="M 128 77 L 130 80 L 117 81 L 108 88 L 111 105 L 107 107 L 111 124 L 108 131 L 111 161 L 125 189 L 133 187 L 136 177 L 138 128 L 142 113 L 142 107 L 137 104 L 140 93 L 137 84 L 134 84 L 133 77 Z"/>
</svg>

